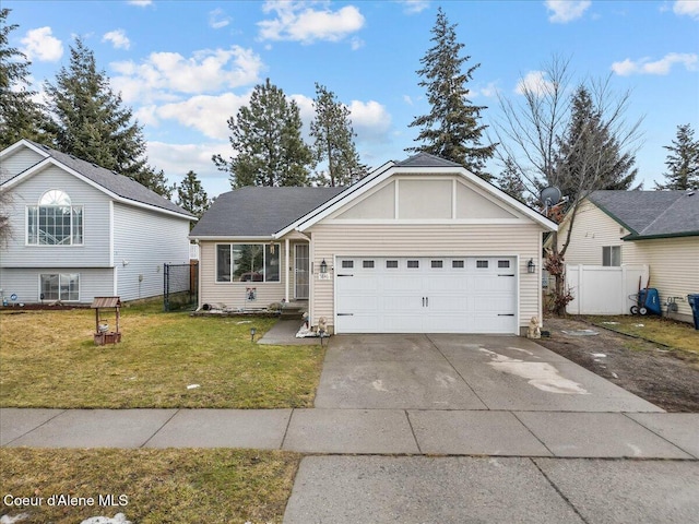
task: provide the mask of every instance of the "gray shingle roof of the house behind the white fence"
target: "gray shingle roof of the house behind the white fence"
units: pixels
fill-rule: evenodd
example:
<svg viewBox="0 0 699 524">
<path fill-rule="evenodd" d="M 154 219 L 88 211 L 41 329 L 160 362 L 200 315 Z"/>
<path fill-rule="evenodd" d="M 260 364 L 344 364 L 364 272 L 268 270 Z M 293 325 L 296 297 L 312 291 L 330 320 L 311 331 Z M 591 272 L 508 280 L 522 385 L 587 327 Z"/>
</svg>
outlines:
<svg viewBox="0 0 699 524">
<path fill-rule="evenodd" d="M 589 200 L 631 231 L 624 240 L 699 236 L 694 191 L 594 191 Z"/>
</svg>

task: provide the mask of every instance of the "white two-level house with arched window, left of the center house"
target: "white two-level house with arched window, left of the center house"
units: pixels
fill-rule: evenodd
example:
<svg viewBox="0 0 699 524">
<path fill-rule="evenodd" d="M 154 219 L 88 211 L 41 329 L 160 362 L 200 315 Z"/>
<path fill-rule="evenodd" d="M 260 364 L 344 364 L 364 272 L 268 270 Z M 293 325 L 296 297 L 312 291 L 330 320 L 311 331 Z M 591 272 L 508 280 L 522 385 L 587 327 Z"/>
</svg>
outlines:
<svg viewBox="0 0 699 524">
<path fill-rule="evenodd" d="M 189 262 L 196 218 L 128 177 L 27 140 L 0 152 L 0 172 L 10 194 L 11 237 L 0 246 L 7 300 L 157 296 L 163 264 Z"/>
</svg>

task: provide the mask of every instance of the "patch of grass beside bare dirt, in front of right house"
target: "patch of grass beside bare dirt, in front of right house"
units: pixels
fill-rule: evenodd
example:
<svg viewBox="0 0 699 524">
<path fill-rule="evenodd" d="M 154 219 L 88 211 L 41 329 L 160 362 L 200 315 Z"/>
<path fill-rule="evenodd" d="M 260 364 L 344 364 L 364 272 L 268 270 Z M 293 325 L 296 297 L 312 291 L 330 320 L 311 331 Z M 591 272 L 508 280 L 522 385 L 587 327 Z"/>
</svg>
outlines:
<svg viewBox="0 0 699 524">
<path fill-rule="evenodd" d="M 699 331 L 692 324 L 659 317 L 587 317 L 594 325 L 637 336 L 699 357 Z"/>
</svg>

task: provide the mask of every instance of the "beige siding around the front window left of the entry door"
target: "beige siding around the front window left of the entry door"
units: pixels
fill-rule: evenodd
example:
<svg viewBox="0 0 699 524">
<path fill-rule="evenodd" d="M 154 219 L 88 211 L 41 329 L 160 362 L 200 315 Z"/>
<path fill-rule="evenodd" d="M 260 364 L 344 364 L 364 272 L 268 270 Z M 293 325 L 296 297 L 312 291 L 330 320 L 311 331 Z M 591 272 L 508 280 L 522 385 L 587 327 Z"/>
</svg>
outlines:
<svg viewBox="0 0 699 524">
<path fill-rule="evenodd" d="M 259 243 L 259 240 L 250 240 L 250 243 Z M 200 281 L 199 281 L 199 303 L 217 305 L 223 303 L 228 308 L 265 308 L 272 302 L 279 302 L 284 298 L 285 278 L 291 276 L 289 284 L 294 284 L 294 274 L 292 264 L 287 264 L 284 253 L 284 241 L 281 242 L 281 260 L 282 267 L 280 282 L 216 282 L 216 243 L 200 243 Z M 289 257 L 294 257 L 294 243 L 289 249 Z M 287 271 L 283 271 L 286 267 Z M 257 289 L 257 300 L 253 302 L 246 301 L 246 288 L 254 287 Z M 289 287 L 289 295 L 294 296 L 293 287 Z"/>
</svg>

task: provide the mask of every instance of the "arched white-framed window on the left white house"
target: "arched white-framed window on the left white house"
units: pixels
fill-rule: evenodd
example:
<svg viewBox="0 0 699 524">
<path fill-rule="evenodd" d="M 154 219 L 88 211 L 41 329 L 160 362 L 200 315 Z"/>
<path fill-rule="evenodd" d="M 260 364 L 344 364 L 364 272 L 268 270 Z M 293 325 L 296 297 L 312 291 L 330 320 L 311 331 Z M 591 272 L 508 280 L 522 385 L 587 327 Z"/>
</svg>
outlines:
<svg viewBox="0 0 699 524">
<path fill-rule="evenodd" d="M 38 205 L 27 206 L 26 237 L 29 246 L 80 246 L 83 243 L 83 206 L 72 205 L 60 189 L 49 189 Z"/>
</svg>

